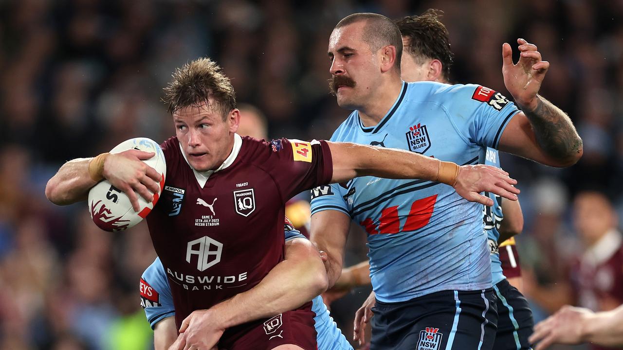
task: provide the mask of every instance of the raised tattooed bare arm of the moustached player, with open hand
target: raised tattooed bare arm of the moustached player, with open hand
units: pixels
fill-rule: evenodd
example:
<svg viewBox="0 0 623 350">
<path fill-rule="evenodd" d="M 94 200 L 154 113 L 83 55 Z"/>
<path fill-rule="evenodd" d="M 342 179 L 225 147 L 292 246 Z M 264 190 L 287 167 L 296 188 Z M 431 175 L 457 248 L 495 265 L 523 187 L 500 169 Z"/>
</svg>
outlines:
<svg viewBox="0 0 623 350">
<path fill-rule="evenodd" d="M 538 95 L 549 62 L 541 60 L 536 45 L 524 39 L 517 43 L 521 52 L 517 64 L 510 45 L 502 45 L 502 73 L 522 112 L 510 120 L 498 148 L 549 166 L 571 166 L 582 156 L 582 139 L 569 116 Z"/>
</svg>

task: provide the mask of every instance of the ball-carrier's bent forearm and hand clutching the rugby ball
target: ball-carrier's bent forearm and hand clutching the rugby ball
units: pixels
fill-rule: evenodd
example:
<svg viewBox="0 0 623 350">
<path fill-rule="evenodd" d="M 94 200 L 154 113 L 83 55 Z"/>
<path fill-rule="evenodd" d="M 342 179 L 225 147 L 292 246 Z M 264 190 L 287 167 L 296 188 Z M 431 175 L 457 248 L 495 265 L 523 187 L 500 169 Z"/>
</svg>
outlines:
<svg viewBox="0 0 623 350">
<path fill-rule="evenodd" d="M 130 198 L 134 210 L 140 210 L 140 194 L 146 201 L 151 201 L 153 193 L 159 191 L 160 174 L 143 163 L 154 153 L 129 149 L 116 154 L 102 153 L 95 158 L 79 158 L 68 161 L 47 182 L 45 196 L 50 202 L 66 206 L 85 201 L 88 190 L 102 179 L 125 192 Z"/>
</svg>

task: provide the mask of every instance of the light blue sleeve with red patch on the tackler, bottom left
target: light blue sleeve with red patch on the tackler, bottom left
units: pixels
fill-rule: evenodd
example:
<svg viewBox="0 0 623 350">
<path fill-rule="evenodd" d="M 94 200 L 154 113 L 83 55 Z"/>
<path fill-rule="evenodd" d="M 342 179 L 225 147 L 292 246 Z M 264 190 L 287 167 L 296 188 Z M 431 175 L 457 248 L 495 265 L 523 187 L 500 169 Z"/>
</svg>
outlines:
<svg viewBox="0 0 623 350">
<path fill-rule="evenodd" d="M 159 258 L 148 267 L 140 281 L 141 306 L 145 309 L 145 317 L 150 323 L 151 329 L 156 323 L 175 316 L 173 296 L 166 278 L 164 266 Z"/>
</svg>

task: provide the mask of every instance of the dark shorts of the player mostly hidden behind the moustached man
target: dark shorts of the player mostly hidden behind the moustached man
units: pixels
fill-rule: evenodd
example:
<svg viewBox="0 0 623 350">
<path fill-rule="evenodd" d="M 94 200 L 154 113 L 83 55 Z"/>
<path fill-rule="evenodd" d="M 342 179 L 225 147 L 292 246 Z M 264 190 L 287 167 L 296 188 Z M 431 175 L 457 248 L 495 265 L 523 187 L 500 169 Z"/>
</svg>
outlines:
<svg viewBox="0 0 623 350">
<path fill-rule="evenodd" d="M 498 297 L 498 332 L 493 349 L 531 349 L 528 337 L 532 334 L 535 321 L 528 301 L 506 280 L 497 283 L 493 289 Z"/>
</svg>

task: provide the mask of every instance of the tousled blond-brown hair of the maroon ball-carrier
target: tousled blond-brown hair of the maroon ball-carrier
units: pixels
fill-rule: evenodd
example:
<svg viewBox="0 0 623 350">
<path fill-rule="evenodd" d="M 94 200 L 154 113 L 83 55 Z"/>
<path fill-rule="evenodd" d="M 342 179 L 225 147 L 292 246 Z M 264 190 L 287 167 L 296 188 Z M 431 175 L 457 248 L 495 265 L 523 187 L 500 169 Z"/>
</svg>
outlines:
<svg viewBox="0 0 623 350">
<path fill-rule="evenodd" d="M 235 108 L 235 91 L 221 67 L 208 57 L 193 60 L 173 72 L 173 80 L 164 88 L 162 101 L 169 113 L 188 106 L 219 108 L 223 120 Z M 214 101 L 211 106 L 210 98 Z"/>
</svg>

